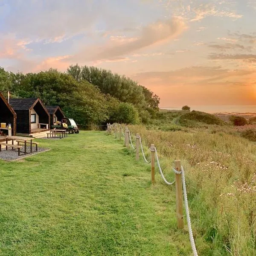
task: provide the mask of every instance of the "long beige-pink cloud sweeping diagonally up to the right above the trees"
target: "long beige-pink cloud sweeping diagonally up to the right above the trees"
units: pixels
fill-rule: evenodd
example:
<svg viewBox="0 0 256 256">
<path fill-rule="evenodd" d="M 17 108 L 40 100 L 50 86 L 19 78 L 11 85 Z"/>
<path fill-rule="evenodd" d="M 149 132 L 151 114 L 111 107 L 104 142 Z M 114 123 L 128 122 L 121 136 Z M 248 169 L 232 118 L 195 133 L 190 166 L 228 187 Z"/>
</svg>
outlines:
<svg viewBox="0 0 256 256">
<path fill-rule="evenodd" d="M 81 61 L 111 60 L 116 57 L 129 55 L 146 47 L 162 44 L 180 35 L 186 29 L 183 20 L 172 18 L 170 20 L 158 20 L 140 30 L 140 34 L 133 38 L 113 37 L 107 44 L 91 49 L 82 47 L 79 54 L 71 59 Z M 111 40 L 112 39 L 112 40 Z"/>
</svg>

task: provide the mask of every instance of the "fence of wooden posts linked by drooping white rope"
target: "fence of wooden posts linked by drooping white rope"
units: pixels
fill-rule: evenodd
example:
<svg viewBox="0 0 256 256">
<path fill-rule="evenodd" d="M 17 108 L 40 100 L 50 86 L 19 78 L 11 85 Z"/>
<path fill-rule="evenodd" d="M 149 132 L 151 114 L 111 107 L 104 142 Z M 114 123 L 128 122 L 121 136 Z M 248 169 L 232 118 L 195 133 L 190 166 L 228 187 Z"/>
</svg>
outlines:
<svg viewBox="0 0 256 256">
<path fill-rule="evenodd" d="M 118 129 L 119 126 L 119 129 Z M 107 124 L 107 133 L 111 134 L 114 133 L 115 134 L 115 138 L 117 138 L 117 133 L 119 133 L 119 140 L 122 139 L 122 137 L 125 137 L 125 143 L 124 145 L 129 148 L 130 144 L 131 144 L 131 148 L 133 150 L 136 150 L 136 160 L 139 160 L 140 158 L 140 149 L 143 155 L 143 160 L 145 161 L 145 163 L 151 163 L 151 183 L 154 184 L 155 183 L 155 172 L 154 172 L 154 166 L 155 166 L 155 160 L 157 163 L 157 167 L 159 170 L 159 173 L 163 179 L 163 181 L 171 186 L 175 184 L 175 193 L 176 193 L 176 215 L 177 215 L 177 226 L 178 229 L 183 229 L 184 224 L 183 224 L 183 200 L 182 200 L 182 188 L 183 188 L 183 196 L 184 196 L 184 206 L 185 206 L 185 211 L 186 211 L 186 220 L 187 220 L 187 224 L 188 224 L 188 230 L 189 230 L 189 240 L 190 240 L 190 244 L 192 247 L 192 251 L 193 251 L 193 256 L 198 256 L 196 247 L 195 247 L 195 241 L 194 241 L 194 237 L 193 237 L 193 232 L 192 232 L 192 227 L 191 227 L 191 219 L 190 219 L 190 215 L 189 215 L 189 204 L 188 204 L 188 199 L 187 199 L 187 192 L 186 192 L 186 180 L 185 180 L 185 172 L 183 169 L 183 166 L 181 166 L 180 161 L 175 160 L 175 167 L 173 168 L 173 172 L 175 174 L 175 180 L 172 182 L 169 182 L 166 180 L 166 178 L 164 177 L 162 168 L 160 166 L 160 161 L 159 161 L 159 157 L 157 154 L 157 148 L 154 146 L 154 144 L 151 144 L 151 147 L 148 148 L 148 151 L 151 154 L 151 158 L 150 160 L 147 160 L 145 157 L 145 152 L 143 150 L 143 144 L 142 144 L 142 140 L 139 134 L 136 134 L 135 138 L 136 138 L 136 146 L 133 145 L 132 140 L 131 140 L 131 132 L 129 131 L 128 127 L 125 126 L 125 132 L 123 131 L 122 125 L 120 124 Z"/>
</svg>

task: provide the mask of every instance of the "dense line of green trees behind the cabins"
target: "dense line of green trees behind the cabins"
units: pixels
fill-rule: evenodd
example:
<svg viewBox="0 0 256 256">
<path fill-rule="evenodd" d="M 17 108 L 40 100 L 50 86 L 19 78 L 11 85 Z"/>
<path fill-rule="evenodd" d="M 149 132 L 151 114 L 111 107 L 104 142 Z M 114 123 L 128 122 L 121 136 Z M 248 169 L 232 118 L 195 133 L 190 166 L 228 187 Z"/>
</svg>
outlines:
<svg viewBox="0 0 256 256">
<path fill-rule="evenodd" d="M 0 91 L 12 98 L 40 98 L 58 105 L 82 126 L 107 122 L 147 123 L 160 98 L 130 78 L 97 67 L 71 65 L 67 72 L 49 69 L 12 73 L 0 67 Z"/>
</svg>

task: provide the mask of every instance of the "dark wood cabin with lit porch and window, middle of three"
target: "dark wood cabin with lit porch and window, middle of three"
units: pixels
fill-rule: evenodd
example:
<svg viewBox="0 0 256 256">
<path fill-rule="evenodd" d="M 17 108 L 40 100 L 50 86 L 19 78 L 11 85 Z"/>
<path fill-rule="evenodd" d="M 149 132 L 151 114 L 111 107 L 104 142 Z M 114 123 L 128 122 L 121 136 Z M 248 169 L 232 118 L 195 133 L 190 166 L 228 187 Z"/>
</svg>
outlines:
<svg viewBox="0 0 256 256">
<path fill-rule="evenodd" d="M 10 99 L 9 102 L 17 114 L 17 133 L 33 134 L 49 130 L 50 115 L 39 98 Z"/>
</svg>

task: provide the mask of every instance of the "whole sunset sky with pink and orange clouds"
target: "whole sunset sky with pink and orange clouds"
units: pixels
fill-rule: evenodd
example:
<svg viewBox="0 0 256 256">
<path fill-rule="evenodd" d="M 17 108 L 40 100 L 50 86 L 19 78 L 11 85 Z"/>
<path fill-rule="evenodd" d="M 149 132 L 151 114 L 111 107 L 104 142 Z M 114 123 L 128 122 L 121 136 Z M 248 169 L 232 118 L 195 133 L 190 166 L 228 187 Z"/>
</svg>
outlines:
<svg viewBox="0 0 256 256">
<path fill-rule="evenodd" d="M 256 0 L 0 0 L 0 67 L 125 75 L 161 107 L 256 105 Z"/>
</svg>

